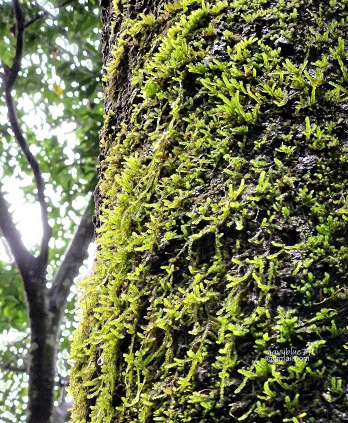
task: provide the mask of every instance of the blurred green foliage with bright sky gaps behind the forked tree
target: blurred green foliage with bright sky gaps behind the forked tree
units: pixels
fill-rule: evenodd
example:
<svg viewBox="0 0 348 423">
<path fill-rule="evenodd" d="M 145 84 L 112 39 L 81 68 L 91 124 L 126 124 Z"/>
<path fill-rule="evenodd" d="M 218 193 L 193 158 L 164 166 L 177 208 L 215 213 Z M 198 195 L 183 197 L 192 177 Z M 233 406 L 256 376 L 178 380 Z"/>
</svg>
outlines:
<svg viewBox="0 0 348 423">
<path fill-rule="evenodd" d="M 98 3 L 74 0 L 61 4 L 21 1 L 25 21 L 32 23 L 25 30 L 22 68 L 12 91 L 19 124 L 40 162 L 49 199 L 54 242 L 51 239 L 48 287 L 86 204 L 86 195 L 96 183 L 102 121 Z M 0 84 L 3 65 L 11 66 L 14 51 L 12 4 L 0 0 Z M 7 200 L 15 205 L 34 203 L 33 175 L 9 128 L 2 91 L 0 141 L 0 182 Z M 25 215 L 16 211 L 15 216 L 25 220 Z M 32 224 L 29 220 L 25 223 Z M 31 248 L 37 253 L 39 245 Z M 25 364 L 28 328 L 21 280 L 11 257 L 7 262 L 0 260 L 0 281 L 0 421 L 22 421 L 27 376 L 14 369 Z M 68 338 L 78 320 L 68 313 L 73 308 L 73 292 L 68 300 L 57 365 L 62 377 L 67 369 Z"/>
</svg>

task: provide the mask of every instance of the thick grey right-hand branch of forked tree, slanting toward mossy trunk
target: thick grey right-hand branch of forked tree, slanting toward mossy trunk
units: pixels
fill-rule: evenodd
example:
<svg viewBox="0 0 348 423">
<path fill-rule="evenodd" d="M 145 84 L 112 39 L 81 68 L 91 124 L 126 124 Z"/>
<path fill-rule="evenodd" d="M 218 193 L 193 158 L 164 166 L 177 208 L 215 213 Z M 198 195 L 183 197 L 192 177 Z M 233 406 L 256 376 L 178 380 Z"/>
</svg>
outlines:
<svg viewBox="0 0 348 423">
<path fill-rule="evenodd" d="M 66 247 L 65 257 L 53 277 L 52 286 L 49 290 L 50 310 L 57 315 L 58 320 L 64 311 L 73 279 L 78 275 L 83 260 L 88 257 L 88 246 L 93 241 L 93 203 L 94 199 L 91 196 L 76 232 Z"/>
</svg>

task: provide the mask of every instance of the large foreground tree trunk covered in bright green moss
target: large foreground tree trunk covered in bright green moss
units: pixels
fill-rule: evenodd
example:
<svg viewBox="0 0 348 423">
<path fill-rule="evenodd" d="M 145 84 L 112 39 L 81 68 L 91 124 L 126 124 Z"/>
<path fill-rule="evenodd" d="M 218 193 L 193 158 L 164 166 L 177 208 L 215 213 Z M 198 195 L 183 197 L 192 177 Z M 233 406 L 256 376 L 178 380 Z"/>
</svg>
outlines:
<svg viewBox="0 0 348 423">
<path fill-rule="evenodd" d="M 116 5 L 71 421 L 346 421 L 347 1 Z"/>
</svg>

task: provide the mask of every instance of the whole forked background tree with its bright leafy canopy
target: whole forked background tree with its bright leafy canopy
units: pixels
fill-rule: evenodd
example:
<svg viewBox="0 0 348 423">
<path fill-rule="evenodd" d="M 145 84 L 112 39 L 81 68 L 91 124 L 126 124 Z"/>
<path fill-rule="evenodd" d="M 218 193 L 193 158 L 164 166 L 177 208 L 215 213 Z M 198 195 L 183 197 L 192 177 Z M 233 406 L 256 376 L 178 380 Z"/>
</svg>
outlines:
<svg viewBox="0 0 348 423">
<path fill-rule="evenodd" d="M 0 1 L 2 421 L 27 412 L 28 422 L 48 422 L 53 401 L 65 395 L 78 320 L 69 313 L 70 288 L 93 238 L 99 26 L 93 0 Z M 27 203 L 39 204 L 37 245 L 18 230 L 35 225 Z M 60 405 L 56 422 L 66 420 Z"/>
</svg>

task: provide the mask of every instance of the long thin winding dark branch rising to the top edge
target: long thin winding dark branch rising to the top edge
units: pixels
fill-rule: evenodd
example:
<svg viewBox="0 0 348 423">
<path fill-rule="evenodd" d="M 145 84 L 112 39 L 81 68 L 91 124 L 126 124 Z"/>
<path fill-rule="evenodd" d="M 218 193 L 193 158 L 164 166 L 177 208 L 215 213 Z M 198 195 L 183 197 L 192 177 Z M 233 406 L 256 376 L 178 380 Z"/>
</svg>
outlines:
<svg viewBox="0 0 348 423">
<path fill-rule="evenodd" d="M 47 210 L 47 204 L 46 204 L 45 195 L 44 195 L 44 181 L 42 179 L 41 169 L 40 169 L 38 160 L 31 153 L 29 149 L 29 145 L 24 139 L 24 136 L 20 129 L 16 112 L 15 112 L 14 103 L 13 103 L 13 97 L 11 94 L 12 86 L 20 70 L 21 57 L 22 57 L 22 51 L 23 51 L 23 35 L 24 35 L 24 29 L 25 29 L 25 21 L 24 21 L 22 10 L 20 8 L 20 4 L 18 0 L 12 0 L 12 2 L 13 2 L 13 8 L 14 8 L 14 13 L 16 18 L 17 36 L 16 36 L 15 54 L 13 58 L 12 67 L 9 68 L 6 66 L 5 72 L 4 72 L 3 81 L 4 81 L 4 91 L 5 91 L 5 102 L 7 106 L 7 115 L 8 115 L 9 123 L 11 125 L 11 129 L 34 174 L 34 179 L 35 179 L 36 188 L 37 188 L 37 199 L 41 209 L 41 221 L 42 221 L 42 232 L 43 232 L 39 257 L 41 259 L 42 266 L 45 267 L 46 259 L 48 255 L 48 241 L 51 237 L 52 229 L 48 224 L 48 210 Z"/>
</svg>

